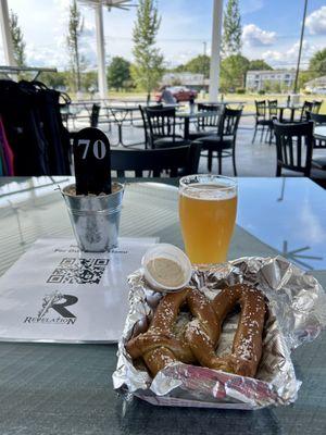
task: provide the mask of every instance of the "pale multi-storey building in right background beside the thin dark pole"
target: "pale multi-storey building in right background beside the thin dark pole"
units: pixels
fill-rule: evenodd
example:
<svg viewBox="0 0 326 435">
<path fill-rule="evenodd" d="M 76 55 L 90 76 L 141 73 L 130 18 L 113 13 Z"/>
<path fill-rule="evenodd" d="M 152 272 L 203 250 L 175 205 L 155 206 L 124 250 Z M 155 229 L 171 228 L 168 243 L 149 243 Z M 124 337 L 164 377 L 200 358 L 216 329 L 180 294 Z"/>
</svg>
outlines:
<svg viewBox="0 0 326 435">
<path fill-rule="evenodd" d="M 288 70 L 248 71 L 246 89 L 249 91 L 283 91 L 293 87 L 296 72 Z"/>
</svg>

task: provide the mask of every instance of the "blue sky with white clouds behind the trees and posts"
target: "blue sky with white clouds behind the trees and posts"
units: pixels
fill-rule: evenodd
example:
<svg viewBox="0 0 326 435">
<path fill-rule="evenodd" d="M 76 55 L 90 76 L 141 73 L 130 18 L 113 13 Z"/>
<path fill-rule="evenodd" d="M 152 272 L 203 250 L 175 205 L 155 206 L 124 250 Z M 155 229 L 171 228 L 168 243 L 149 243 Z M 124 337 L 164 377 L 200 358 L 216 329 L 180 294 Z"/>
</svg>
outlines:
<svg viewBox="0 0 326 435">
<path fill-rule="evenodd" d="M 134 0 L 133 3 L 137 3 Z M 226 0 L 224 1 L 226 3 Z M 18 15 L 26 42 L 28 66 L 67 65 L 66 28 L 70 0 L 8 0 Z M 239 0 L 242 24 L 242 54 L 264 59 L 274 67 L 294 67 L 304 0 Z M 166 66 L 210 53 L 213 0 L 158 0 L 162 17 L 158 47 Z M 89 67 L 97 65 L 95 12 L 80 5 L 84 35 L 80 51 Z M 106 61 L 114 55 L 133 60 L 133 27 L 136 8 L 103 10 Z M 326 1 L 309 0 L 302 69 L 311 55 L 326 47 Z M 0 36 L 0 64 L 4 63 Z"/>
</svg>

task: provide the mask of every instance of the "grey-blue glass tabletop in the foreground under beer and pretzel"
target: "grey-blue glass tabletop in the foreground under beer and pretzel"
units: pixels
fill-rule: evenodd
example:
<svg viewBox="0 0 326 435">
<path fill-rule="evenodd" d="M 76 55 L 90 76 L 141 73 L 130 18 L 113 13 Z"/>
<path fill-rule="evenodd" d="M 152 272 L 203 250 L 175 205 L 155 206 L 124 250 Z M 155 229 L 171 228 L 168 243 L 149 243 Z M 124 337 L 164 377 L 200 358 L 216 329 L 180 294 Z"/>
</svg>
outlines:
<svg viewBox="0 0 326 435">
<path fill-rule="evenodd" d="M 64 177 L 0 178 L 0 273 L 35 239 L 72 236 L 61 196 L 53 190 L 70 182 Z M 321 240 L 325 245 L 326 238 L 326 192 L 305 178 L 238 182 L 238 225 L 229 258 L 275 256 L 281 253 L 286 240 L 285 253 L 306 263 L 305 269 L 326 287 L 321 251 Z M 181 247 L 177 189 L 165 184 L 128 184 L 121 235 L 159 236 Z M 323 259 L 300 257 L 306 252 Z M 138 399 L 126 403 L 112 389 L 115 353 L 115 345 L 0 343 L 0 433 L 326 433 L 326 334 L 292 353 L 297 376 L 303 382 L 297 402 L 253 412 L 158 408 Z"/>
</svg>

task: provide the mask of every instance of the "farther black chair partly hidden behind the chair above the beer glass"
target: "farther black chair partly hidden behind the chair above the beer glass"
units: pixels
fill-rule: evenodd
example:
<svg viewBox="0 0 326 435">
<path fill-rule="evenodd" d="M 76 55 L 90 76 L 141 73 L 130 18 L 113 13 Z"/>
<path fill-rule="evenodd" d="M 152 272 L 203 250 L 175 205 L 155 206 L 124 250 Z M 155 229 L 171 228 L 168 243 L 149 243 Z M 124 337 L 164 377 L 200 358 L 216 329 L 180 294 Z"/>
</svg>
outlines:
<svg viewBox="0 0 326 435">
<path fill-rule="evenodd" d="M 217 132 L 218 122 L 224 105 L 198 103 L 197 108 L 199 112 L 212 112 L 212 115 L 198 119 L 197 130 L 189 133 L 190 140 L 196 140 L 204 136 L 211 136 L 213 133 Z"/>
</svg>

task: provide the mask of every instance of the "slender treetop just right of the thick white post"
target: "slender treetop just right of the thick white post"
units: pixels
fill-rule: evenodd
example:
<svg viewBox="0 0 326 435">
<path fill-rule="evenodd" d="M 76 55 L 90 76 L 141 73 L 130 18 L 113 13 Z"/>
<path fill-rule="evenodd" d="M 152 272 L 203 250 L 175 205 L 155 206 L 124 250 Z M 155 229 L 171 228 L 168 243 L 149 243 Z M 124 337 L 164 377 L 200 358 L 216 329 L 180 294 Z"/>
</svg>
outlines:
<svg viewBox="0 0 326 435">
<path fill-rule="evenodd" d="M 223 20 L 222 53 L 224 57 L 240 54 L 242 26 L 238 0 L 228 0 Z"/>
</svg>

